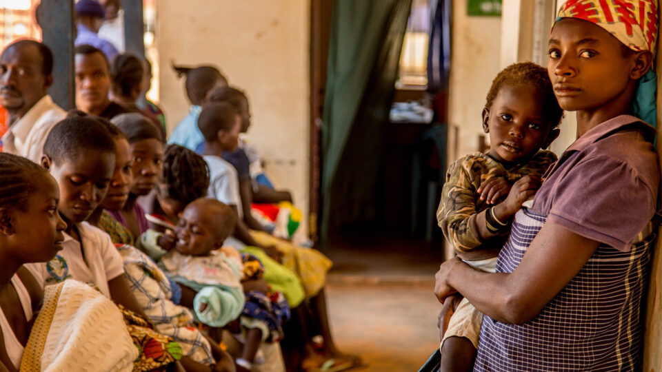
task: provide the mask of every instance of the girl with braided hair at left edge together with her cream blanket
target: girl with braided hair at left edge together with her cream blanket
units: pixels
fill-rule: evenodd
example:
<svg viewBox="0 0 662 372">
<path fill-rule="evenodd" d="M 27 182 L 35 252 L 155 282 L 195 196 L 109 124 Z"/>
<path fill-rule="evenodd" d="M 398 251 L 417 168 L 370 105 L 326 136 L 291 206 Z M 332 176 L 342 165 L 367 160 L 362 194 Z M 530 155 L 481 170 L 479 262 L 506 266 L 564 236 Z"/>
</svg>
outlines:
<svg viewBox="0 0 662 372">
<path fill-rule="evenodd" d="M 81 366 L 86 358 L 99 368 L 131 371 L 137 349 L 122 327 L 121 314 L 112 302 L 86 285 L 69 280 L 66 285 L 49 287 L 46 299 L 39 282 L 23 265 L 47 262 L 62 249 L 66 223 L 58 213 L 59 188 L 50 174 L 27 158 L 0 154 L 0 259 L 3 262 L 0 293 L 0 370 L 39 371 L 41 366 L 67 370 Z M 57 287 L 57 288 L 56 288 Z M 58 298 L 92 300 L 85 309 L 60 311 Z M 34 323 L 42 301 L 46 307 Z M 46 335 L 51 324 L 62 326 L 90 324 L 103 314 L 106 320 L 99 327 L 85 327 L 68 338 Z M 110 326 L 110 328 L 109 328 Z M 34 332 L 33 332 L 34 330 Z M 59 344 L 58 340 L 63 340 Z M 88 340 L 112 344 L 112 351 L 98 348 L 72 348 L 75 342 Z M 24 353 L 25 349 L 25 353 Z M 60 353 L 52 353 L 59 349 Z M 51 352 L 48 352 L 51 350 Z M 95 351 L 101 351 L 96 352 Z"/>
</svg>

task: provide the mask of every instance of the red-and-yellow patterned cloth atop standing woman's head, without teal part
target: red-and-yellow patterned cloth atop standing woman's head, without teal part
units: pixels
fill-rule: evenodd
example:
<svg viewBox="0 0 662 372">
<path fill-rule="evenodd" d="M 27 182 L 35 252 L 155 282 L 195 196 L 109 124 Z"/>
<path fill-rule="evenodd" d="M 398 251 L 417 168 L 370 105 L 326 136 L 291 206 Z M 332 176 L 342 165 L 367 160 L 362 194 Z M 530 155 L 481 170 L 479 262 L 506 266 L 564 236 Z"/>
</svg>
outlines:
<svg viewBox="0 0 662 372">
<path fill-rule="evenodd" d="M 556 21 L 561 18 L 590 21 L 628 48 L 655 54 L 657 0 L 568 0 L 561 6 Z"/>
</svg>

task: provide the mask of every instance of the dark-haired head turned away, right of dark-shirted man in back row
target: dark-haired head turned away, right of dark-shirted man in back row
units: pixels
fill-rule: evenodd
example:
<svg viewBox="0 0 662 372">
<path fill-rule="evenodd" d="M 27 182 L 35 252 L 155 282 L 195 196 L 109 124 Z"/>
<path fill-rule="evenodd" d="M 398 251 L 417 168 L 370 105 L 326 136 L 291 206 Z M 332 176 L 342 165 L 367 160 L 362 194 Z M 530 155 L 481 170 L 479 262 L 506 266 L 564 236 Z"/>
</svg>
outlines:
<svg viewBox="0 0 662 372">
<path fill-rule="evenodd" d="M 143 92 L 143 62 L 132 54 L 117 54 L 110 66 L 112 94 L 135 101 Z"/>
</svg>

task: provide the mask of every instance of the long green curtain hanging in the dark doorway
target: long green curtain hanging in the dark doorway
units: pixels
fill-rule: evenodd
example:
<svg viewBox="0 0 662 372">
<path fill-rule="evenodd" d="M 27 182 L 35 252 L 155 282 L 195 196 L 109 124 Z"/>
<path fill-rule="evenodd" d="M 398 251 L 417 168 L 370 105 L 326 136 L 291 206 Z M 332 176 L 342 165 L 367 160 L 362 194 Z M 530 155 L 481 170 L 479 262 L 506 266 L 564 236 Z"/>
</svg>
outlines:
<svg viewBox="0 0 662 372">
<path fill-rule="evenodd" d="M 374 189 L 412 0 L 334 1 L 322 127 L 321 238 L 374 220 Z"/>
</svg>

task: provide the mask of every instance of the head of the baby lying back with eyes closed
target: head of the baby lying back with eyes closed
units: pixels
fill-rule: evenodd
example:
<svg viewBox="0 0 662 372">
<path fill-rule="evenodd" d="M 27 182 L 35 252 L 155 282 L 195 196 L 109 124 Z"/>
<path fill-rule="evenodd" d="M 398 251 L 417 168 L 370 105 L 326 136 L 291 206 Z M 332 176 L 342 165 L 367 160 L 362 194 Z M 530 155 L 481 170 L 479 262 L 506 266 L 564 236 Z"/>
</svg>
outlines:
<svg viewBox="0 0 662 372">
<path fill-rule="evenodd" d="M 185 255 L 205 256 L 223 246 L 236 223 L 232 208 L 219 200 L 195 200 L 186 206 L 174 229 L 177 234 L 175 249 Z"/>
</svg>

